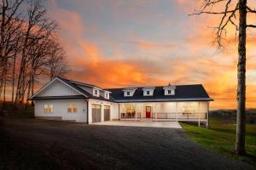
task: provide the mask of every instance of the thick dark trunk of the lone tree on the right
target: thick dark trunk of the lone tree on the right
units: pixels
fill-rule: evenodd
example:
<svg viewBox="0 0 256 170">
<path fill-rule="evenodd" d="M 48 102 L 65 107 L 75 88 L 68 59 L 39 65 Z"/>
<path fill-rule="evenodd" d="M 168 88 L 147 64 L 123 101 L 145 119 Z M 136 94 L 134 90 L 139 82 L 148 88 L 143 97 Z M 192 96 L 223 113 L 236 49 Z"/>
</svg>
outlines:
<svg viewBox="0 0 256 170">
<path fill-rule="evenodd" d="M 247 0 L 239 0 L 239 42 L 237 65 L 236 154 L 245 155 L 246 132 L 246 29 Z"/>
</svg>

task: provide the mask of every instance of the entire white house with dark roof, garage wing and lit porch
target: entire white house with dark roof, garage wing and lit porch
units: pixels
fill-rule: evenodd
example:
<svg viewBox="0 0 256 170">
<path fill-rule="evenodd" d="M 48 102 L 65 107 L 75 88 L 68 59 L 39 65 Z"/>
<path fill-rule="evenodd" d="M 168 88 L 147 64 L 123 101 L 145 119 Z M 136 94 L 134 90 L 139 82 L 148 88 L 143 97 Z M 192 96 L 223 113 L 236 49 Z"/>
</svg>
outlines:
<svg viewBox="0 0 256 170">
<path fill-rule="evenodd" d="M 150 120 L 208 122 L 212 101 L 201 84 L 102 89 L 55 77 L 30 99 L 35 116 L 74 122 Z"/>
</svg>

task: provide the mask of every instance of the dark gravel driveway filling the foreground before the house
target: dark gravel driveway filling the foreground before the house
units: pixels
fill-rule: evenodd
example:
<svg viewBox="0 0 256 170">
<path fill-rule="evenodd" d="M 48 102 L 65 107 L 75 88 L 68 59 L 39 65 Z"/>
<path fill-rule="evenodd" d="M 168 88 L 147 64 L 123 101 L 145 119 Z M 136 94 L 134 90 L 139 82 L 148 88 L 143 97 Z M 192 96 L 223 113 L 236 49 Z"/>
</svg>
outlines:
<svg viewBox="0 0 256 170">
<path fill-rule="evenodd" d="M 192 142 L 183 129 L 0 118 L 1 169 L 253 169 Z"/>
</svg>

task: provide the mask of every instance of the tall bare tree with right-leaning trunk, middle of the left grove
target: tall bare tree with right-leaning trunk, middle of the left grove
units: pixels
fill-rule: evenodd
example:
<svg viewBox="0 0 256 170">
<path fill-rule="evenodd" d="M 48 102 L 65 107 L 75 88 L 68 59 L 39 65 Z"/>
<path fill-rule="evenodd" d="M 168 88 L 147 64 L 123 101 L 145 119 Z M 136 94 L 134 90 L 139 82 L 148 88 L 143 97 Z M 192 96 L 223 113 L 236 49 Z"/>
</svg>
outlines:
<svg viewBox="0 0 256 170">
<path fill-rule="evenodd" d="M 26 88 L 30 84 L 29 77 L 30 72 L 26 70 L 31 58 L 28 54 L 31 48 L 34 48 L 34 44 L 49 34 L 54 33 L 56 29 L 56 23 L 54 20 L 50 20 L 47 16 L 47 10 L 44 8 L 40 0 L 32 0 L 28 2 L 28 23 L 26 24 L 26 31 L 24 36 L 24 43 L 21 52 L 20 72 L 17 82 L 17 90 L 15 103 L 18 101 L 22 103 L 25 98 Z"/>
</svg>

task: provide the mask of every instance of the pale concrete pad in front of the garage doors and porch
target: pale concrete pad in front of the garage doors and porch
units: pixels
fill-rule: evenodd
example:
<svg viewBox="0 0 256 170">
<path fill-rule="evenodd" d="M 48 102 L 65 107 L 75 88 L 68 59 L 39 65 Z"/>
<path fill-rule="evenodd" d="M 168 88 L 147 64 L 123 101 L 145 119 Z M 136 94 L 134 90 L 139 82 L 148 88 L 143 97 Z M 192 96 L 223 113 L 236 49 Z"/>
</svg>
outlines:
<svg viewBox="0 0 256 170">
<path fill-rule="evenodd" d="M 122 127 L 161 127 L 161 128 L 182 128 L 178 122 L 149 122 L 149 121 L 108 121 L 96 122 L 93 125 L 108 125 Z"/>
</svg>

